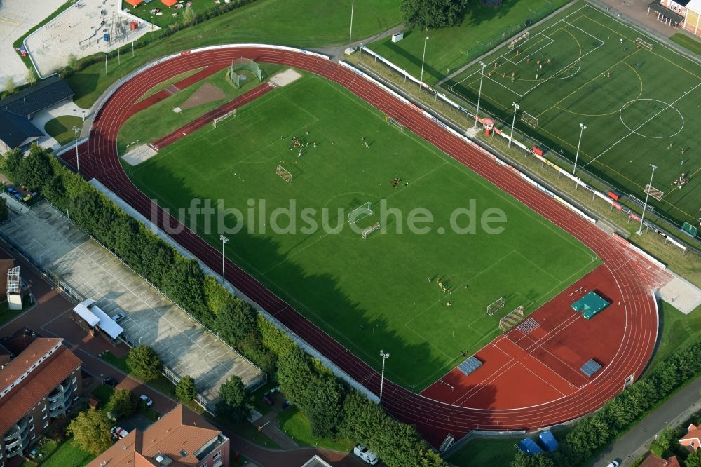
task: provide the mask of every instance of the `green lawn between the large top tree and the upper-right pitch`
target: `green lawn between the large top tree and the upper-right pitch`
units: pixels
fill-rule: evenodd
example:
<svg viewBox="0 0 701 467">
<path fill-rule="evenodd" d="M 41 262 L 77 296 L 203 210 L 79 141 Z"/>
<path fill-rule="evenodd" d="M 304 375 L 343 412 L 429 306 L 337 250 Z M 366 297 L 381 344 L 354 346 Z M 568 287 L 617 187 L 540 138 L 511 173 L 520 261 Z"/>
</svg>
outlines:
<svg viewBox="0 0 701 467">
<path fill-rule="evenodd" d="M 504 0 L 500 7 L 489 8 L 470 2 L 460 26 L 431 31 L 409 29 L 400 42 L 393 43 L 388 38 L 369 44 L 369 48 L 418 78 L 423 42 L 428 36 L 423 81 L 433 84 L 449 70 L 454 72 L 525 29 L 526 20 L 536 22 L 566 3 L 567 0 Z"/>
</svg>

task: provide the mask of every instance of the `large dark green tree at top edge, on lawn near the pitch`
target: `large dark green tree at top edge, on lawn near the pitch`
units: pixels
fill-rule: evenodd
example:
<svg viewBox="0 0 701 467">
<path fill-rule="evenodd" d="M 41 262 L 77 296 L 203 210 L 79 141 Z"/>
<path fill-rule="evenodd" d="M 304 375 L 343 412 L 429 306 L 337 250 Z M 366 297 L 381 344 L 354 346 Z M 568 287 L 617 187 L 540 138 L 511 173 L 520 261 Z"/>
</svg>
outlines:
<svg viewBox="0 0 701 467">
<path fill-rule="evenodd" d="M 404 22 L 418 29 L 458 26 L 468 0 L 402 0 Z"/>
</svg>

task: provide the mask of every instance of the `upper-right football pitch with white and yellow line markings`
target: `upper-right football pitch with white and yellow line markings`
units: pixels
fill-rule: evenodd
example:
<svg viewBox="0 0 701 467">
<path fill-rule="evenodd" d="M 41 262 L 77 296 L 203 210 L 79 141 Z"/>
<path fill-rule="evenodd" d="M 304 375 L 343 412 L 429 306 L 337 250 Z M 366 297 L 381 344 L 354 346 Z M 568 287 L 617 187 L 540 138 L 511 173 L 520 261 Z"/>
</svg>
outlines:
<svg viewBox="0 0 701 467">
<path fill-rule="evenodd" d="M 660 200 L 650 197 L 655 210 L 679 224 L 697 222 L 701 65 L 584 3 L 483 62 L 481 107 L 503 121 L 503 130 L 510 130 L 516 103 L 517 128 L 573 162 L 581 123 L 587 128 L 578 167 L 641 204 L 654 164 L 653 187 L 662 192 Z M 466 69 L 444 88 L 476 102 L 479 69 Z M 688 183 L 679 188 L 673 183 L 682 173 Z"/>
</svg>

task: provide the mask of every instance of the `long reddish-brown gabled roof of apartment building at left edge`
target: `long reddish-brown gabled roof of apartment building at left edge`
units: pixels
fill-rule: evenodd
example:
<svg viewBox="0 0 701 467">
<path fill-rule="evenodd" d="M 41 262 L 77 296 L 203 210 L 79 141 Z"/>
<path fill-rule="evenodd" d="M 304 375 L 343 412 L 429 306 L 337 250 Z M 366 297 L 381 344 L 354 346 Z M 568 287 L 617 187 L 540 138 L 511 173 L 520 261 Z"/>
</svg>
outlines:
<svg viewBox="0 0 701 467">
<path fill-rule="evenodd" d="M 62 339 L 36 339 L 14 360 L 0 370 L 0 384 L 6 388 Z M 0 398 L 0 433 L 5 433 L 41 398 L 46 397 L 81 365 L 81 360 L 63 345 Z M 8 381 L 10 381 L 8 383 Z"/>
</svg>

